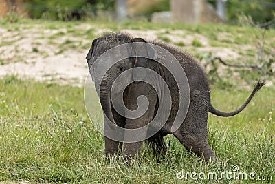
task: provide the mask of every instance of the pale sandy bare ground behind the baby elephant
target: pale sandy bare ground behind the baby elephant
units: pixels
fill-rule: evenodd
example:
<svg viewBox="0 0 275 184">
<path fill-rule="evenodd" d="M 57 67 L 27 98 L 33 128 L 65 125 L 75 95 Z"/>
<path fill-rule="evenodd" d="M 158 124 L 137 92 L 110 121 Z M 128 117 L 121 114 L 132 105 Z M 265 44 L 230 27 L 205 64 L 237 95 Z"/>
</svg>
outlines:
<svg viewBox="0 0 275 184">
<path fill-rule="evenodd" d="M 23 78 L 37 81 L 58 81 L 83 85 L 89 70 L 85 60 L 92 39 L 111 30 L 95 28 L 94 25 L 83 24 L 70 28 L 45 28 L 42 25 L 19 30 L 0 29 L 0 76 L 15 74 Z M 85 32 L 93 30 L 94 38 L 87 38 Z M 83 32 L 83 34 L 80 34 Z M 210 39 L 201 34 L 186 34 L 185 30 L 121 30 L 133 37 L 158 40 L 159 35 L 170 39 L 170 44 L 185 44 L 182 50 L 194 52 L 212 52 L 213 55 L 237 59 L 239 54 L 232 48 L 218 48 L 209 45 Z M 77 34 L 77 35 L 75 35 Z M 222 34 L 221 37 L 229 37 Z M 201 47 L 193 47 L 192 41 L 197 39 Z M 192 54 L 192 53 L 191 53 Z"/>
</svg>

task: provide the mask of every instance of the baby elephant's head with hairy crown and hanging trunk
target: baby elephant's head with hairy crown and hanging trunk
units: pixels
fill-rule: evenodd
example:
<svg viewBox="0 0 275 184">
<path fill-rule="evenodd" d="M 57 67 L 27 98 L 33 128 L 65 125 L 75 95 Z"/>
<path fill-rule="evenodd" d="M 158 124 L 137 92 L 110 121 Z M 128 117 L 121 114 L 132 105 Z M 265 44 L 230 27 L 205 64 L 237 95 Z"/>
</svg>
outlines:
<svg viewBox="0 0 275 184">
<path fill-rule="evenodd" d="M 139 82 L 137 79 L 143 79 L 147 73 L 133 70 L 122 81 L 116 82 L 118 86 L 115 89 L 117 90 L 112 90 L 115 79 L 130 68 L 152 69 L 153 65 L 150 67 L 149 61 L 159 59 L 156 50 L 151 45 L 144 43 L 146 43 L 144 39 L 132 39 L 128 35 L 120 33 L 107 34 L 92 42 L 86 59 L 96 91 L 100 96 L 102 110 L 109 118 L 112 114 L 111 99 L 115 99 L 113 98 L 115 94 L 123 93 L 122 83 L 131 83 L 131 81 L 137 83 Z"/>
</svg>

